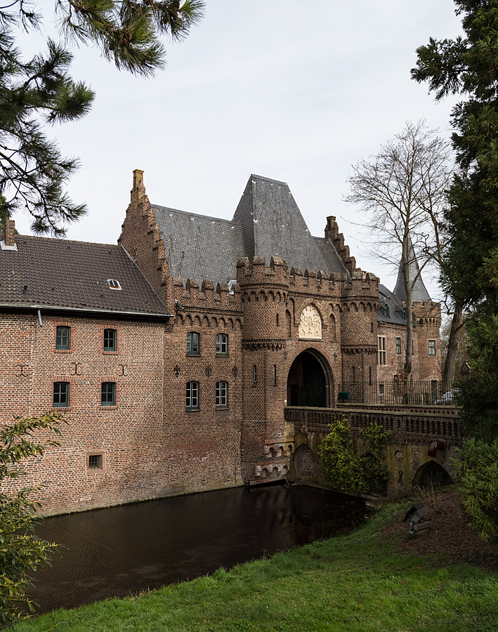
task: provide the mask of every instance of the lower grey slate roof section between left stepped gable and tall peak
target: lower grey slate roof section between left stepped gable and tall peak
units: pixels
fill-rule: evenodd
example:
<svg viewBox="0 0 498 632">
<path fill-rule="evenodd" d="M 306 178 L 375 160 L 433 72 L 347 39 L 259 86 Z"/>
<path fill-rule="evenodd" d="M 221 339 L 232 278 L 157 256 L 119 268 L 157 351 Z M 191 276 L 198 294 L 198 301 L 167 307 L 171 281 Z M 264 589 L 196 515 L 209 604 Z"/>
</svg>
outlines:
<svg viewBox="0 0 498 632">
<path fill-rule="evenodd" d="M 240 228 L 233 222 L 152 204 L 169 273 L 228 283 L 237 278 Z"/>
</svg>

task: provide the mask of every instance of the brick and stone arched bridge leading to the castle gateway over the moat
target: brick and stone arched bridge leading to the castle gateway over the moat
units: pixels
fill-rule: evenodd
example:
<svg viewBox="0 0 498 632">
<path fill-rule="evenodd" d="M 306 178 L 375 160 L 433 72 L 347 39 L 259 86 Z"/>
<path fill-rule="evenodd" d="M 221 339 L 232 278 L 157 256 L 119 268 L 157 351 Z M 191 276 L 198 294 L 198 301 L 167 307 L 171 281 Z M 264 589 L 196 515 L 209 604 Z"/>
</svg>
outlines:
<svg viewBox="0 0 498 632">
<path fill-rule="evenodd" d="M 457 409 L 426 406 L 369 406 L 346 404 L 336 408 L 287 407 L 285 420 L 294 426 L 294 450 L 289 479 L 312 485 L 326 485 L 322 470 L 320 444 L 329 432 L 328 425 L 337 416 L 346 416 L 353 428 L 353 440 L 363 454 L 358 430 L 376 421 L 392 433 L 386 447 L 389 496 L 402 496 L 413 485 L 431 481 L 445 484 L 454 480 L 451 459 L 454 448 L 461 445 L 461 428 Z M 428 456 L 429 446 L 436 440 L 435 456 Z M 444 447 L 443 447 L 444 446 Z"/>
</svg>

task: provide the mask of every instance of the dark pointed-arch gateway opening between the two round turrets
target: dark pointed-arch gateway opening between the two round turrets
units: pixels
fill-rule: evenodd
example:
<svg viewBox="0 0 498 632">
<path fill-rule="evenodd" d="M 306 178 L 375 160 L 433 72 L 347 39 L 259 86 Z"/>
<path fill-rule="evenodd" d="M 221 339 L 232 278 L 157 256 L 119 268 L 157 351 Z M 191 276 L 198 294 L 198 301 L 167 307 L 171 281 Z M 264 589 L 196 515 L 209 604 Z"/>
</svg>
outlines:
<svg viewBox="0 0 498 632">
<path fill-rule="evenodd" d="M 332 390 L 332 371 L 325 357 L 315 349 L 300 353 L 287 376 L 288 405 L 330 407 Z"/>
</svg>

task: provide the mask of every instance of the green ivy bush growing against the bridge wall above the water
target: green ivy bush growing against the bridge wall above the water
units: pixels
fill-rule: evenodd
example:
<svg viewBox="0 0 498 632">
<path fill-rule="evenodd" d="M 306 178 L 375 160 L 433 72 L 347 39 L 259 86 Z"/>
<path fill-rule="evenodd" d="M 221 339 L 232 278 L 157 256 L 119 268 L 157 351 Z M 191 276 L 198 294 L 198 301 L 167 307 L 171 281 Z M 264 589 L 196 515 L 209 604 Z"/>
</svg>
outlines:
<svg viewBox="0 0 498 632">
<path fill-rule="evenodd" d="M 329 428 L 330 432 L 320 446 L 320 454 L 330 484 L 353 496 L 368 491 L 383 492 L 388 476 L 384 453 L 391 433 L 375 422 L 360 429 L 358 435 L 367 450 L 364 456 L 360 456 L 353 445 L 353 432 L 345 416 L 336 418 Z"/>
</svg>

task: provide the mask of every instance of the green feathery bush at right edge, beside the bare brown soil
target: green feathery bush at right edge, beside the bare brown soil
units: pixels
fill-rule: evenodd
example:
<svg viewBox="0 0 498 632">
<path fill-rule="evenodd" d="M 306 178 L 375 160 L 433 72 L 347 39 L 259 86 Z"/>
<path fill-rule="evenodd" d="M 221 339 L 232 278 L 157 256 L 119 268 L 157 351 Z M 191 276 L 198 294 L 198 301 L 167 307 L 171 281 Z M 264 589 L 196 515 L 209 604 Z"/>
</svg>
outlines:
<svg viewBox="0 0 498 632">
<path fill-rule="evenodd" d="M 498 531 L 498 440 L 464 440 L 452 461 L 463 492 L 471 529 L 488 540 Z"/>
</svg>

